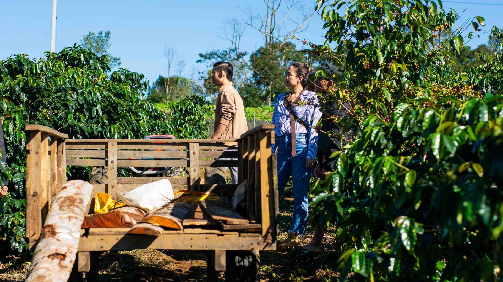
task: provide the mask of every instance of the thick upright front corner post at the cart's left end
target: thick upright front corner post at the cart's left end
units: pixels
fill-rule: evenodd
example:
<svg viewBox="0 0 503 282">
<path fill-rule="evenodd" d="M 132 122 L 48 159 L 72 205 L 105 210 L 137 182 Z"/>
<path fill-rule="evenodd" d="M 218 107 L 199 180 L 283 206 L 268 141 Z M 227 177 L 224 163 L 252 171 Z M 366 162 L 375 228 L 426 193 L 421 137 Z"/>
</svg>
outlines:
<svg viewBox="0 0 503 282">
<path fill-rule="evenodd" d="M 40 212 L 40 143 L 42 133 L 29 133 L 26 149 L 26 236 L 34 242 L 40 236 L 42 214 Z"/>
</svg>

